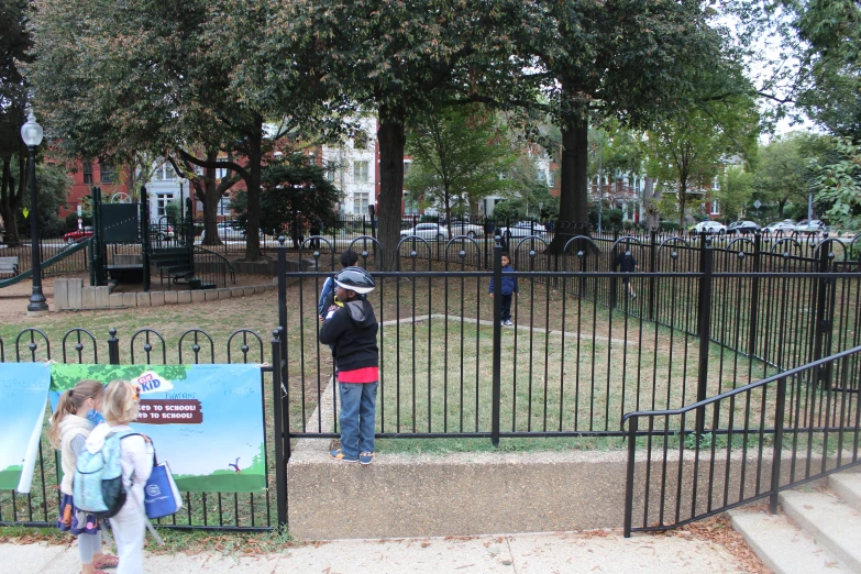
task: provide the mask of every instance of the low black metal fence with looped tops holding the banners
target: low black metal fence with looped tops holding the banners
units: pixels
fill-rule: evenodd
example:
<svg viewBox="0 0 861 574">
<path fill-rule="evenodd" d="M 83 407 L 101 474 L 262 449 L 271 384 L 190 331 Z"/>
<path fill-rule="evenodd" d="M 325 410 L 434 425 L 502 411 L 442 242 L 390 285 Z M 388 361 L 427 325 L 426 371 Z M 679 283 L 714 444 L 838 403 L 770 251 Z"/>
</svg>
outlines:
<svg viewBox="0 0 861 574">
<path fill-rule="evenodd" d="M 264 341 L 257 333 L 241 329 L 234 331 L 217 350 L 216 342 L 205 331 L 192 329 L 183 333 L 175 353 L 169 352 L 165 339 L 153 329 L 141 329 L 131 334 L 126 351 L 121 351 L 120 335 L 111 329 L 109 338 L 100 341 L 86 329 L 71 329 L 59 344 L 53 343 L 38 329 L 24 329 L 14 341 L 0 338 L 0 363 L 58 361 L 62 363 L 91 364 L 167 364 L 168 358 L 179 364 L 261 363 L 261 387 L 266 453 L 266 486 L 264 494 L 238 493 L 183 493 L 184 508 L 170 518 L 159 519 L 158 526 L 173 529 L 262 531 L 276 528 L 287 521 L 287 494 L 283 472 L 283 454 L 276 452 L 277 420 L 273 397 L 280 395 L 279 330 L 271 343 L 272 363 L 267 361 Z M 47 417 L 46 417 L 47 420 Z M 56 526 L 59 509 L 59 460 L 47 440 L 47 423 L 38 445 L 38 459 L 33 485 L 27 495 L 14 490 L 0 490 L 0 526 Z M 280 463 L 275 468 L 276 462 Z M 276 482 L 276 476 L 280 479 Z"/>
</svg>

